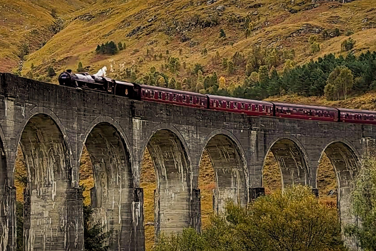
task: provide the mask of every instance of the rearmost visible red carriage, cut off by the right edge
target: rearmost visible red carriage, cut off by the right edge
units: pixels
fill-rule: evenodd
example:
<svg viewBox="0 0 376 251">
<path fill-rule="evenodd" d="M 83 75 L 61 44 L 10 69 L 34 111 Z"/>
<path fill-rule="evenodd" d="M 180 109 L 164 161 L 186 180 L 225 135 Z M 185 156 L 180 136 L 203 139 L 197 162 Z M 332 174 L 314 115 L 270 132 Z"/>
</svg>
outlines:
<svg viewBox="0 0 376 251">
<path fill-rule="evenodd" d="M 339 109 L 340 122 L 376 125 L 376 111 Z"/>
</svg>

